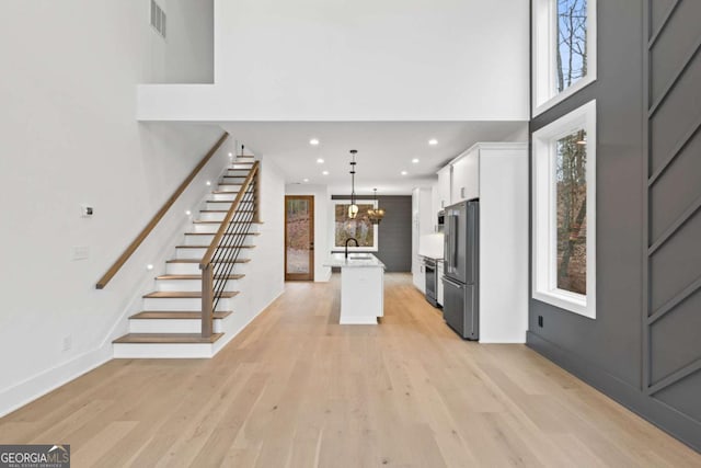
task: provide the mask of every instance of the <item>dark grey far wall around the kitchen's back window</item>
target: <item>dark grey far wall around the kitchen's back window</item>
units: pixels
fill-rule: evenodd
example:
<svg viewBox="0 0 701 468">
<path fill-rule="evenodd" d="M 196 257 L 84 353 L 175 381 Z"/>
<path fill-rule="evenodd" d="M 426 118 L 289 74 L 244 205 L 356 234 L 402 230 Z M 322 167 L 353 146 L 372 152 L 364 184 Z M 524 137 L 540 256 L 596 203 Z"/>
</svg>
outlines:
<svg viewBox="0 0 701 468">
<path fill-rule="evenodd" d="M 332 195 L 332 199 L 349 199 L 350 195 Z M 358 199 L 372 199 L 371 196 L 357 196 Z M 412 271 L 412 197 L 411 195 L 378 196 L 379 205 L 384 208 L 384 219 L 380 222 L 380 242 L 378 259 L 384 263 L 388 272 Z"/>
</svg>

